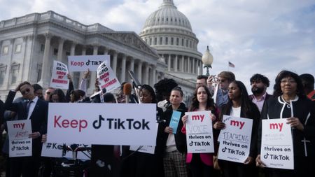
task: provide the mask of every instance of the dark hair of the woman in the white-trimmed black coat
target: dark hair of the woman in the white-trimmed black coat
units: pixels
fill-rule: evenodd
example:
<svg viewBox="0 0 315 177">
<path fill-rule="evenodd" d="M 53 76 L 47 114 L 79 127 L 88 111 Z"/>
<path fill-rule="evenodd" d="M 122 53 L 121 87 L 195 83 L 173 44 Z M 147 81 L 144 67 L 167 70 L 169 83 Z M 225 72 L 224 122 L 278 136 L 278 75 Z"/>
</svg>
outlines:
<svg viewBox="0 0 315 177">
<path fill-rule="evenodd" d="M 281 80 L 283 78 L 288 78 L 288 77 L 294 78 L 295 82 L 297 83 L 297 90 L 296 90 L 297 96 L 304 97 L 305 96 L 304 87 L 303 87 L 300 76 L 298 76 L 296 73 L 293 73 L 291 71 L 286 71 L 286 70 L 281 71 L 278 74 L 278 76 L 276 76 L 276 80 L 274 84 L 274 97 L 279 97 L 282 95 Z"/>
</svg>

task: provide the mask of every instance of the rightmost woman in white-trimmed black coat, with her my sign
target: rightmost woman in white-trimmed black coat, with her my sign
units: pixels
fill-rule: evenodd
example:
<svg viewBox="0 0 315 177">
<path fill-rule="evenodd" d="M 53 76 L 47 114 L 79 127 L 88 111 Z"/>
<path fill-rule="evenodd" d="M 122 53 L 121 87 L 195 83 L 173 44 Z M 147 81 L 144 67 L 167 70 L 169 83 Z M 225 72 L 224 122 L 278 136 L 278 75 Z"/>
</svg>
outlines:
<svg viewBox="0 0 315 177">
<path fill-rule="evenodd" d="M 262 119 L 286 119 L 286 125 L 290 125 L 291 128 L 289 130 L 292 137 L 290 136 L 289 140 L 292 140 L 293 150 L 292 146 L 286 146 L 279 142 L 268 147 L 261 144 L 265 148 L 260 149 L 261 129 L 269 129 L 269 132 L 272 132 L 277 128 L 277 132 L 283 132 L 286 125 L 279 123 L 279 126 L 275 126 L 275 124 L 273 126 L 270 124 L 267 127 L 260 126 L 258 150 L 261 150 L 261 153 L 267 151 L 269 154 L 276 154 L 271 158 L 272 160 L 279 160 L 279 155 L 283 155 L 285 158 L 281 158 L 281 162 L 278 163 L 281 164 L 281 167 L 274 167 L 270 163 L 267 165 L 267 162 L 271 161 L 269 160 L 270 155 L 269 157 L 266 154 L 258 155 L 256 165 L 258 167 L 269 167 L 267 169 L 269 176 L 314 176 L 314 113 L 314 105 L 305 96 L 300 77 L 290 71 L 281 71 L 276 77 L 276 83 L 274 84 L 274 97 L 269 99 L 266 106 L 262 108 Z M 288 143 L 290 142 L 286 142 L 286 144 Z M 286 153 L 288 152 L 293 152 L 293 157 L 287 156 Z M 292 162 L 288 163 L 291 160 L 294 160 L 293 168 L 288 166 L 292 164 Z"/>
</svg>

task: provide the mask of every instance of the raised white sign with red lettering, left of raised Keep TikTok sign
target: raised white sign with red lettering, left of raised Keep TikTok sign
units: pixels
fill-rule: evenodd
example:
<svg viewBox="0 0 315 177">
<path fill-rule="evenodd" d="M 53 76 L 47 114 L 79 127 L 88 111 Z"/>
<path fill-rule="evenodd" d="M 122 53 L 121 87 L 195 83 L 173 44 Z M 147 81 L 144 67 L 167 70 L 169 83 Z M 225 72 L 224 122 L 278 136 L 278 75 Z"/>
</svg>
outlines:
<svg viewBox="0 0 315 177">
<path fill-rule="evenodd" d="M 52 76 L 50 80 L 50 87 L 59 89 L 69 88 L 69 79 L 67 78 L 68 68 L 62 62 L 54 61 L 52 66 Z"/>
</svg>

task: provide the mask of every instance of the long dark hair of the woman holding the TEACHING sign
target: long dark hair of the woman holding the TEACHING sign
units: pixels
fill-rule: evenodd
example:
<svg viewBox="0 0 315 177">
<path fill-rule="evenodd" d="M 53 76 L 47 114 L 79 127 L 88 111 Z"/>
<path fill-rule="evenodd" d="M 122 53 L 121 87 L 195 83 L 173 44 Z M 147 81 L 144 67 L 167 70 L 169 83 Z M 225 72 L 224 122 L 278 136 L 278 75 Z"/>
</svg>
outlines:
<svg viewBox="0 0 315 177">
<path fill-rule="evenodd" d="M 237 87 L 239 87 L 239 91 L 241 91 L 241 109 L 244 110 L 245 113 L 251 110 L 251 106 L 253 106 L 251 99 L 248 97 L 248 92 L 246 90 L 246 87 L 244 83 L 242 83 L 239 80 L 234 80 L 232 83 L 235 83 Z M 229 98 L 227 103 L 229 111 L 231 111 L 232 108 L 232 99 Z"/>
</svg>

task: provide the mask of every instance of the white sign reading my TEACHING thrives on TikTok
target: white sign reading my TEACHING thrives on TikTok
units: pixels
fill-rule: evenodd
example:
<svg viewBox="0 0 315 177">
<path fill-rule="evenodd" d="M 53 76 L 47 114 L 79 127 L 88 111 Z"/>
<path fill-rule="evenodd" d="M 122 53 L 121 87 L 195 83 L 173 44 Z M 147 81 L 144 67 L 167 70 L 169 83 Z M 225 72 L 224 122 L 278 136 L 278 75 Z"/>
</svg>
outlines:
<svg viewBox="0 0 315 177">
<path fill-rule="evenodd" d="M 231 162 L 245 162 L 251 148 L 253 120 L 223 115 L 225 129 L 220 132 L 218 159 Z"/>
</svg>

